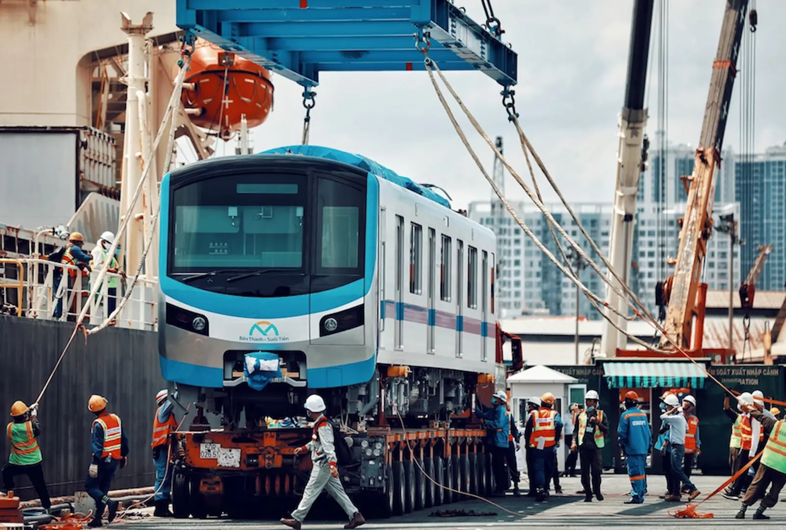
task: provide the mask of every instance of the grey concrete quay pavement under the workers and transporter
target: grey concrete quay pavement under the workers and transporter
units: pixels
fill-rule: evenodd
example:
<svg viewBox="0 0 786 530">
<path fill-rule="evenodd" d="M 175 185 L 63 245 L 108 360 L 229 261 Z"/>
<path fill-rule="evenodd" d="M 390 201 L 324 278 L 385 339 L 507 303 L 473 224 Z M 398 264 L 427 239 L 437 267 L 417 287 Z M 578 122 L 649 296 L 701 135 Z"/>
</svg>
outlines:
<svg viewBox="0 0 786 530">
<path fill-rule="evenodd" d="M 703 491 L 699 499 L 714 491 L 723 483 L 725 477 L 693 477 L 696 486 Z M 685 507 L 685 503 L 663 502 L 657 495 L 663 493 L 665 480 L 661 476 L 648 477 L 648 487 L 650 495 L 642 505 L 626 505 L 623 501 L 627 499 L 627 491 L 630 490 L 630 483 L 624 475 L 605 474 L 603 489 L 605 500 L 603 502 L 583 502 L 583 495 L 576 495 L 575 491 L 581 489 L 578 478 L 566 478 L 562 480 L 562 488 L 565 495 L 553 495 L 548 502 L 534 502 L 526 497 L 515 498 L 509 495 L 503 499 L 492 499 L 498 506 L 492 506 L 487 502 L 476 499 L 468 499 L 463 502 L 454 502 L 446 506 L 439 506 L 435 509 L 421 510 L 401 517 L 391 517 L 390 519 L 373 519 L 373 513 L 365 510 L 365 517 L 369 520 L 363 528 L 381 529 L 395 528 L 397 530 L 411 529 L 450 529 L 450 530 L 482 530 L 483 528 L 555 528 L 560 530 L 571 528 L 630 528 L 635 525 L 639 528 L 740 528 L 742 526 L 752 526 L 754 521 L 751 516 L 755 511 L 755 506 L 748 510 L 745 521 L 738 521 L 734 518 L 740 506 L 740 502 L 729 501 L 721 495 L 716 495 L 713 499 L 704 502 L 700 506 L 700 513 L 713 513 L 711 519 L 677 519 L 670 517 L 670 510 L 677 510 Z M 686 496 L 684 496 L 686 498 Z M 332 501 L 331 501 L 332 502 Z M 758 506 L 758 505 L 756 505 Z M 504 509 L 504 510 L 503 510 Z M 494 512 L 494 516 L 481 517 L 430 517 L 435 510 L 475 510 L 476 512 Z M 509 510 L 509 511 L 505 511 Z M 150 510 L 152 511 L 152 510 Z M 515 515 L 514 515 L 515 513 Z M 766 525 L 770 527 L 786 528 L 786 503 L 778 504 L 774 508 L 767 510 L 767 515 L 771 516 L 770 521 L 755 521 L 756 526 Z M 314 528 L 327 530 L 332 528 L 343 528 L 345 521 L 325 521 L 319 520 L 319 513 L 312 513 L 306 523 L 303 524 L 304 530 Z M 324 517 L 324 516 L 323 516 Z M 230 521 L 228 519 L 207 519 L 204 521 L 195 520 L 163 520 L 153 517 L 126 518 L 129 530 L 174 530 L 175 528 L 188 528 L 193 530 L 224 530 L 241 528 L 286 528 L 277 521 Z"/>
</svg>

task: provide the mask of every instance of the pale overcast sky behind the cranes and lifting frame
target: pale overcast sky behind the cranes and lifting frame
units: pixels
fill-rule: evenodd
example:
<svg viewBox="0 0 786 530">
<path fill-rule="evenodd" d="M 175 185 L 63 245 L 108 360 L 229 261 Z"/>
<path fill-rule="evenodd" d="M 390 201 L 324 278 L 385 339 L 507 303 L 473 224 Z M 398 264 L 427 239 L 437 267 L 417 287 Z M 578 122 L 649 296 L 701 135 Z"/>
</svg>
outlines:
<svg viewBox="0 0 786 530">
<path fill-rule="evenodd" d="M 760 151 L 786 142 L 786 2 L 755 3 L 755 141 Z M 456 0 L 456 4 L 465 6 L 476 21 L 485 19 L 479 0 Z M 633 2 L 493 0 L 493 5 L 506 31 L 505 42 L 518 53 L 516 103 L 534 148 L 569 201 L 612 201 L 617 116 L 623 104 Z M 670 2 L 667 134 L 671 142 L 696 145 L 698 141 L 724 6 L 723 0 Z M 655 59 L 651 53 L 650 61 Z M 652 69 L 648 79 L 648 133 L 653 145 L 655 72 Z M 504 137 L 506 156 L 526 175 L 515 130 L 501 107 L 501 87 L 481 72 L 446 75 L 487 133 Z M 454 208 L 490 197 L 490 187 L 450 125 L 426 72 L 323 72 L 320 79 L 311 144 L 360 153 L 416 182 L 443 186 L 453 197 Z M 255 152 L 300 142 L 302 89 L 278 75 L 273 81 L 274 112 L 252 135 Z M 725 135 L 725 145 L 735 150 L 738 89 Z M 466 120 L 461 123 L 470 127 Z M 474 131 L 471 138 L 490 171 L 493 153 Z M 233 149 L 234 144 L 227 146 Z M 509 176 L 506 188 L 509 197 L 524 197 Z"/>
</svg>

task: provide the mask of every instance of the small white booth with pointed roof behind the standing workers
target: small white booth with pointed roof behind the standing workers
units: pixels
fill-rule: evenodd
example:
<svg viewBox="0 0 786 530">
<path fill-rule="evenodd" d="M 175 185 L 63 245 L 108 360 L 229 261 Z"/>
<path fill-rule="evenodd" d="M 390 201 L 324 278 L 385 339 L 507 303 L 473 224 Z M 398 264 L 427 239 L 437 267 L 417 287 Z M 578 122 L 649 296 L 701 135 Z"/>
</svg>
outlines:
<svg viewBox="0 0 786 530">
<path fill-rule="evenodd" d="M 519 427 L 522 436 L 522 450 L 516 454 L 516 461 L 523 473 L 523 469 L 526 469 L 523 447 L 527 444 L 527 440 L 524 440 L 523 436 L 527 414 L 527 399 L 531 397 L 539 399 L 546 392 L 551 392 L 556 399 L 554 410 L 560 413 L 564 424 L 568 419 L 566 414 L 567 407 L 571 404 L 571 396 L 573 397 L 572 401 L 575 401 L 580 396 L 578 403 L 582 403 L 586 393 L 586 385 L 578 383 L 578 379 L 575 377 L 565 375 L 548 366 L 539 365 L 527 368 L 527 370 L 521 370 L 508 377 L 508 388 L 510 388 L 512 399 L 510 410 L 513 418 L 516 418 L 516 426 Z M 567 415 L 569 416 L 569 414 Z M 565 447 L 564 440 L 560 440 L 560 447 L 556 451 L 560 470 L 565 469 L 565 458 L 569 450 L 569 447 Z"/>
</svg>

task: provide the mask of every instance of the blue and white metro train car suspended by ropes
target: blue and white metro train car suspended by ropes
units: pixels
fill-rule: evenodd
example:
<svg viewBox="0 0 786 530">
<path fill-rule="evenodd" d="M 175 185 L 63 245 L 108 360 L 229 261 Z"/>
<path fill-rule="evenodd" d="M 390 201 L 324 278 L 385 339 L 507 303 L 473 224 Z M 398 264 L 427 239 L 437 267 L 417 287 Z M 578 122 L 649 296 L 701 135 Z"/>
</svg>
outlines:
<svg viewBox="0 0 786 530">
<path fill-rule="evenodd" d="M 494 374 L 491 230 L 362 156 L 292 146 L 161 184 L 160 361 L 181 403 L 281 418 L 445 418 Z M 246 355 L 280 359 L 249 388 Z"/>
</svg>

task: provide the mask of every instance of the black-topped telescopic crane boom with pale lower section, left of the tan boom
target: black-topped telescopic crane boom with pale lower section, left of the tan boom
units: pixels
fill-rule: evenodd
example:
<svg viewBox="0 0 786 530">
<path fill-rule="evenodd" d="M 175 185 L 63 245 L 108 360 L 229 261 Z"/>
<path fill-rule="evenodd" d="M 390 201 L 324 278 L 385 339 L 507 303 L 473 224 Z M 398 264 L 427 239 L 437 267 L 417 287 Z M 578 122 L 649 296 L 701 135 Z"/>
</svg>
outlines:
<svg viewBox="0 0 786 530">
<path fill-rule="evenodd" d="M 609 244 L 609 260 L 624 282 L 630 282 L 630 262 L 634 245 L 634 218 L 639 177 L 645 169 L 648 140 L 645 138 L 647 109 L 644 108 L 647 82 L 649 38 L 652 30 L 652 5 L 654 0 L 636 0 L 633 24 L 630 28 L 630 50 L 628 73 L 625 86 L 625 104 L 619 119 L 619 149 L 617 153 L 617 178 L 612 213 L 612 235 Z M 616 278 L 609 274 L 609 282 L 622 291 Z M 625 300 L 607 285 L 606 301 L 617 311 L 625 309 Z M 614 311 L 606 310 L 621 329 L 625 329 L 625 318 Z M 608 320 L 603 322 L 601 351 L 614 357 L 617 348 L 625 348 L 626 336 Z"/>
</svg>

